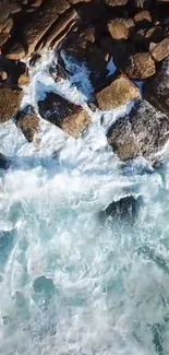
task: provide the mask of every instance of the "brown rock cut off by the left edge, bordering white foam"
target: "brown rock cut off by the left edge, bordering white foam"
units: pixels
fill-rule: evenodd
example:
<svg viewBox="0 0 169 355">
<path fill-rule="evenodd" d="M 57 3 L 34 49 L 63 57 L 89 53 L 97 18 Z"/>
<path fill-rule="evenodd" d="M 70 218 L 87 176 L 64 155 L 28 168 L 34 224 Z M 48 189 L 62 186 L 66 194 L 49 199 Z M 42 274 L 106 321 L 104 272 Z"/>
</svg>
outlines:
<svg viewBox="0 0 169 355">
<path fill-rule="evenodd" d="M 20 109 L 23 93 L 10 87 L 0 87 L 0 122 L 14 117 Z"/>
</svg>

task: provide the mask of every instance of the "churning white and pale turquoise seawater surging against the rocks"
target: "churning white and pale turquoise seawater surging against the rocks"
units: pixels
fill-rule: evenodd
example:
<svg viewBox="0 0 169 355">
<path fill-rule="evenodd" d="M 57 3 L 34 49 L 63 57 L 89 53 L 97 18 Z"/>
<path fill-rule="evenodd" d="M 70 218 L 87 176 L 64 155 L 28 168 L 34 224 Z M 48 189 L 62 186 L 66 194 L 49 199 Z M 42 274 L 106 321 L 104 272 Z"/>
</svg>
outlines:
<svg viewBox="0 0 169 355">
<path fill-rule="evenodd" d="M 57 84 L 51 60 L 32 69 L 23 106 L 51 90 L 85 106 L 89 82 L 74 85 L 85 69 Z M 0 171 L 1 355 L 169 354 L 168 154 L 157 171 L 118 159 L 106 131 L 130 108 L 101 123 L 93 114 L 79 140 L 43 119 L 33 143 L 1 125 L 0 152 L 12 158 Z M 134 225 L 99 218 L 129 194 L 144 199 Z"/>
</svg>

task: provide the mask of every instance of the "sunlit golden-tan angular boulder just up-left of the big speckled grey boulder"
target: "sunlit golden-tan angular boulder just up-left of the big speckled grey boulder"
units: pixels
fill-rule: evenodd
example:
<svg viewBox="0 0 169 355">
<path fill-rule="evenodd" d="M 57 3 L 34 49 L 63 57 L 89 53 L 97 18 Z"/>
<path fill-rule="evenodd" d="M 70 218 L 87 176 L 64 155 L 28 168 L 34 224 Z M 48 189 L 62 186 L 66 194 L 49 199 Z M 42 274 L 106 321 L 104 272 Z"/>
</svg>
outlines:
<svg viewBox="0 0 169 355">
<path fill-rule="evenodd" d="M 99 87 L 96 93 L 96 106 L 100 110 L 110 110 L 140 97 L 138 87 L 120 72 L 108 78 L 105 87 Z"/>
</svg>

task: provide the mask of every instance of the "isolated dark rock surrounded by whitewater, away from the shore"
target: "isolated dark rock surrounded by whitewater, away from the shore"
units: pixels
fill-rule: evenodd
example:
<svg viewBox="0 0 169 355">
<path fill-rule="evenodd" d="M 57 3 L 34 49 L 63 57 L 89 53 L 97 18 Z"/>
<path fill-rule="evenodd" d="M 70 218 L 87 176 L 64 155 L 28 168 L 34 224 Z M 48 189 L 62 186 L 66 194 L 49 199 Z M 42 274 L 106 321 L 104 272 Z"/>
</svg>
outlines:
<svg viewBox="0 0 169 355">
<path fill-rule="evenodd" d="M 101 220 L 114 218 L 116 221 L 134 222 L 138 215 L 140 208 L 143 205 L 141 196 L 126 196 L 118 201 L 112 201 L 106 210 L 100 212 Z"/>
</svg>

